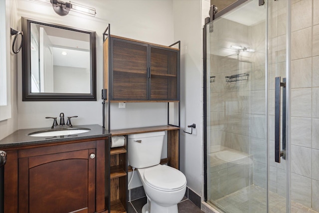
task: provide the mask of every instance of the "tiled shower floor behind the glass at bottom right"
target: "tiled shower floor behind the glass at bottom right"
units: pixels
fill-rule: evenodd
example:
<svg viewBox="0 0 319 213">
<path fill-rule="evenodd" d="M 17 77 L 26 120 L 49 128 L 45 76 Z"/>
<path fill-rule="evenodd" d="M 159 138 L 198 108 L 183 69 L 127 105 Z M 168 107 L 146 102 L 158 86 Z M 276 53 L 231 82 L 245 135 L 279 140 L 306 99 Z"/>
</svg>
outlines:
<svg viewBox="0 0 319 213">
<path fill-rule="evenodd" d="M 270 193 L 269 212 L 285 213 L 286 199 L 276 193 Z M 250 185 L 230 195 L 215 200 L 214 206 L 227 213 L 265 213 L 266 190 L 256 185 Z M 291 202 L 291 213 L 318 213 L 294 201 Z"/>
</svg>

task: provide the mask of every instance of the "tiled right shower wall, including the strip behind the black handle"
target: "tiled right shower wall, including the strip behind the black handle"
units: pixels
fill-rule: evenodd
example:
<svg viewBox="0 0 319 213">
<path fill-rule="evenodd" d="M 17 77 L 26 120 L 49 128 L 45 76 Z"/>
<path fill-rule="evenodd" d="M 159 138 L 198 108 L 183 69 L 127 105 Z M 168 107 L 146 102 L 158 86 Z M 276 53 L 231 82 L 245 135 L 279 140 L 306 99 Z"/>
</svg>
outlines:
<svg viewBox="0 0 319 213">
<path fill-rule="evenodd" d="M 274 77 L 286 76 L 287 1 L 270 3 L 269 187 L 284 196 L 286 161 L 273 160 L 273 89 Z M 294 0 L 291 9 L 291 199 L 319 211 L 319 0 Z"/>
</svg>

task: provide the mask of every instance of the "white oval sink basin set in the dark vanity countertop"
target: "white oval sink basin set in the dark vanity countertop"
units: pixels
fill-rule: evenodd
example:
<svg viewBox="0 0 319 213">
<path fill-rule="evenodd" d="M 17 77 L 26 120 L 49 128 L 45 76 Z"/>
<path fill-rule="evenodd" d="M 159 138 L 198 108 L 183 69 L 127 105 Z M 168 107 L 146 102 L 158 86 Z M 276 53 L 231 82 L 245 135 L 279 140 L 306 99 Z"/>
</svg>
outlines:
<svg viewBox="0 0 319 213">
<path fill-rule="evenodd" d="M 28 136 L 32 137 L 53 137 L 62 135 L 74 135 L 90 131 L 89 128 L 66 128 L 66 129 L 49 129 L 31 132 Z"/>
</svg>

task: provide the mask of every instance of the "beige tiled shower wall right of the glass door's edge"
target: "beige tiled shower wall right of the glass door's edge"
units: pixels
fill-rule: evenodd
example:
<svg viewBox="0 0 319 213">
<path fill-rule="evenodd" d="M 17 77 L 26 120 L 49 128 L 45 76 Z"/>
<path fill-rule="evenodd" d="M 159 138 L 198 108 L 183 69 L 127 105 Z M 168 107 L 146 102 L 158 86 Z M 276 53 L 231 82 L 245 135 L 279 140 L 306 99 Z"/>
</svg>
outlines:
<svg viewBox="0 0 319 213">
<path fill-rule="evenodd" d="M 316 136 L 319 132 L 319 14 L 316 8 L 319 8 L 318 0 L 299 0 L 292 4 L 292 14 L 303 15 L 292 15 L 294 96 L 291 105 L 296 107 L 291 111 L 291 190 L 293 201 L 319 211 L 319 138 Z"/>
</svg>

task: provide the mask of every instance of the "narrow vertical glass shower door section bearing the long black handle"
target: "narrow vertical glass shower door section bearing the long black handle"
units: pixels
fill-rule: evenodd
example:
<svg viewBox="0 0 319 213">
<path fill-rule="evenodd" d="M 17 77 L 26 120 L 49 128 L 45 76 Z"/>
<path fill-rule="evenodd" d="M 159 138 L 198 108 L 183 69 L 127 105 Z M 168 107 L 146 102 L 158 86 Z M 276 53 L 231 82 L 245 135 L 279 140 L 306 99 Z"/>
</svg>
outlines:
<svg viewBox="0 0 319 213">
<path fill-rule="evenodd" d="M 288 199 L 288 157 L 290 156 L 288 156 L 289 145 L 286 137 L 289 130 L 287 122 L 289 99 L 286 94 L 289 92 L 287 17 L 290 2 L 269 1 L 268 3 L 268 209 L 270 213 L 286 213 L 290 212 Z"/>
</svg>

